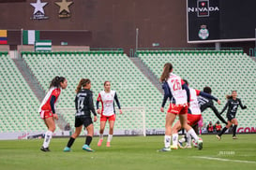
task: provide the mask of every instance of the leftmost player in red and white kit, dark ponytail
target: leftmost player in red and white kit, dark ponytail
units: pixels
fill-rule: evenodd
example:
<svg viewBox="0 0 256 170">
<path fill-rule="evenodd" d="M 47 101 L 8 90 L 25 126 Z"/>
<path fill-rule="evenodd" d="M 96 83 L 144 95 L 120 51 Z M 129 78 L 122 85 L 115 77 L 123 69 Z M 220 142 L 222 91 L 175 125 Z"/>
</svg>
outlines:
<svg viewBox="0 0 256 170">
<path fill-rule="evenodd" d="M 55 131 L 55 120 L 58 120 L 58 115 L 55 114 L 55 104 L 58 100 L 58 97 L 61 93 L 61 89 L 66 89 L 68 86 L 68 81 L 66 78 L 63 77 L 55 77 L 53 78 L 50 84 L 50 90 L 47 92 L 46 96 L 44 97 L 41 106 L 39 107 L 39 113 L 41 119 L 44 120 L 48 131 L 45 133 L 44 142 L 41 147 L 42 151 L 50 151 L 49 145 Z"/>
</svg>

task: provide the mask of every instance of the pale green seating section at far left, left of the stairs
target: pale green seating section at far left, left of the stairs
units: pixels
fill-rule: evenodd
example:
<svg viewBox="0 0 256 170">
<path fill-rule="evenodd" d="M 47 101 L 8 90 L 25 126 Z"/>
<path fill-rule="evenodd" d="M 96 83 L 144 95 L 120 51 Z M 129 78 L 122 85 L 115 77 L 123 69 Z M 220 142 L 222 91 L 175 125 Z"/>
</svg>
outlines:
<svg viewBox="0 0 256 170">
<path fill-rule="evenodd" d="M 39 119 L 39 101 L 8 52 L 0 53 L 0 133 L 45 129 Z"/>
</svg>

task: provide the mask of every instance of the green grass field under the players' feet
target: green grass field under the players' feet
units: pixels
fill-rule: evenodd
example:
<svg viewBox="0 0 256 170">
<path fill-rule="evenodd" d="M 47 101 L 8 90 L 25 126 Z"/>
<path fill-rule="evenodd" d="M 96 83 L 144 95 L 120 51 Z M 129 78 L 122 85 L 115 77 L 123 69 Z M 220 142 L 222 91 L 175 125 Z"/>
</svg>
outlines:
<svg viewBox="0 0 256 170">
<path fill-rule="evenodd" d="M 84 138 L 78 138 L 71 152 L 62 150 L 68 138 L 53 138 L 51 152 L 39 150 L 42 139 L 0 141 L 0 169 L 54 170 L 54 169 L 256 169 L 256 135 L 203 135 L 203 150 L 176 149 L 158 152 L 163 147 L 163 136 L 113 136 L 111 148 L 106 148 L 106 137 L 101 147 L 98 137 L 91 148 L 82 149 Z M 206 169 L 207 168 L 207 169 Z"/>
</svg>

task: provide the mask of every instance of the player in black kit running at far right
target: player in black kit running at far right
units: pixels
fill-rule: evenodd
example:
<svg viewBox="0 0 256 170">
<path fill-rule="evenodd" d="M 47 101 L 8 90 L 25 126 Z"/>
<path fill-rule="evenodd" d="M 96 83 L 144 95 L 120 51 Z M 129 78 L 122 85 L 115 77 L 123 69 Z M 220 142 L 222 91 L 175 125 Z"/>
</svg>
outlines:
<svg viewBox="0 0 256 170">
<path fill-rule="evenodd" d="M 237 111 L 238 106 L 241 106 L 242 109 L 246 109 L 247 106 L 243 106 L 241 100 L 239 98 L 237 98 L 237 92 L 233 91 L 231 95 L 227 95 L 226 98 L 228 99 L 227 104 L 224 106 L 224 108 L 222 109 L 222 111 L 220 112 L 220 114 L 222 114 L 227 107 L 229 107 L 228 112 L 227 112 L 227 118 L 228 118 L 228 124 L 226 125 L 226 127 L 224 127 L 222 129 L 222 131 L 216 135 L 216 137 L 218 138 L 218 140 L 221 139 L 221 135 L 223 135 L 227 129 L 229 129 L 233 124 L 233 139 L 237 139 L 236 137 L 236 127 L 238 125 L 238 121 L 235 118 L 235 114 Z"/>
</svg>

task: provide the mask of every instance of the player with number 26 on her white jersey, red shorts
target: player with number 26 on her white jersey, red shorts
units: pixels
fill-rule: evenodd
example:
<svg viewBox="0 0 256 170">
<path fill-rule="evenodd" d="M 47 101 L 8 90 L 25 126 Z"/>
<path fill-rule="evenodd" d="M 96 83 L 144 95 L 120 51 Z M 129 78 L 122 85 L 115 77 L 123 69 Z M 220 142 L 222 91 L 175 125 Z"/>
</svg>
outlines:
<svg viewBox="0 0 256 170">
<path fill-rule="evenodd" d="M 161 112 L 164 112 L 164 105 L 168 98 L 170 98 L 171 104 L 166 113 L 165 120 L 165 147 L 159 151 L 171 151 L 172 125 L 177 115 L 179 116 L 181 127 L 183 127 L 188 132 L 188 135 L 192 135 L 192 137 L 199 143 L 198 149 L 202 149 L 203 140 L 199 138 L 195 131 L 188 125 L 187 113 L 190 96 L 188 86 L 183 79 L 173 74 L 173 64 L 164 64 L 160 81 L 163 83 L 162 87 L 164 90 L 163 102 L 160 108 Z"/>
</svg>

